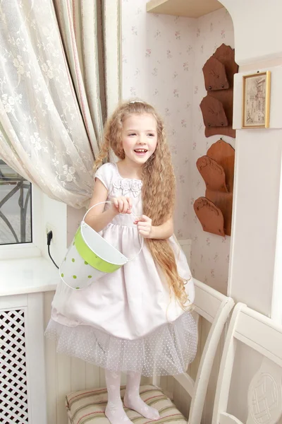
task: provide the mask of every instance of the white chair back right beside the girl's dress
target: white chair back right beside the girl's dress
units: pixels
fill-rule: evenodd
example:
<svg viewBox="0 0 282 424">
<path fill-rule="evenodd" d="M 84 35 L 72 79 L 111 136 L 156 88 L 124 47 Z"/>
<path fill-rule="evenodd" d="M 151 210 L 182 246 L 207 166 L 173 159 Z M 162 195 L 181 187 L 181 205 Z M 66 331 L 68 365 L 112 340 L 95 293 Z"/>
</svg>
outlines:
<svg viewBox="0 0 282 424">
<path fill-rule="evenodd" d="M 200 424 L 214 356 L 219 345 L 223 326 L 226 324 L 228 315 L 233 308 L 234 301 L 232 298 L 222 295 L 200 281 L 194 279 L 194 282 L 195 312 L 201 317 L 204 317 L 204 319 L 207 319 L 212 326 L 204 345 L 195 381 L 188 373 L 175 375 L 173 377 L 192 398 L 188 423 Z"/>
</svg>

